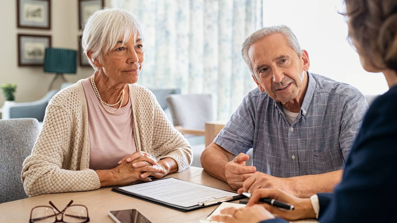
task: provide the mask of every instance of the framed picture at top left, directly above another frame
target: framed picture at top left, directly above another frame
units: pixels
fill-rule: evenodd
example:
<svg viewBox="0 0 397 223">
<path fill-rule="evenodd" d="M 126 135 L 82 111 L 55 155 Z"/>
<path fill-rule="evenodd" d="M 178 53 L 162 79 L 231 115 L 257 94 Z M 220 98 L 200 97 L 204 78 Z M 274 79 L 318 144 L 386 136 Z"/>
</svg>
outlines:
<svg viewBox="0 0 397 223">
<path fill-rule="evenodd" d="M 51 29 L 51 1 L 17 0 L 17 27 Z"/>
</svg>

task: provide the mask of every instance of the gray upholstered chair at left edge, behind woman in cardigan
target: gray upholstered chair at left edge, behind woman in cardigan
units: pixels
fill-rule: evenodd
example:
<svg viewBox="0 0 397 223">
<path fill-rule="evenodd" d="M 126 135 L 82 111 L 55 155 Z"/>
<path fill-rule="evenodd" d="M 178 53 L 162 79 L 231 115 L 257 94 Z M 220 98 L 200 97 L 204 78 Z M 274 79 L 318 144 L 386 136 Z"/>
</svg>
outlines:
<svg viewBox="0 0 397 223">
<path fill-rule="evenodd" d="M 21 182 L 22 163 L 38 135 L 37 119 L 0 120 L 0 203 L 27 198 Z"/>
</svg>

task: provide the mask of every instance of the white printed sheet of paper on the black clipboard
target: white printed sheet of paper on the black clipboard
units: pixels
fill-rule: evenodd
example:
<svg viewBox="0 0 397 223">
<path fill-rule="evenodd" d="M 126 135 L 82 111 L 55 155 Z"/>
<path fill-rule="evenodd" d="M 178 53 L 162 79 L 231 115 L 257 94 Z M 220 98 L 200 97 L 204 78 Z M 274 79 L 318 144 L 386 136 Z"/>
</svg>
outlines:
<svg viewBox="0 0 397 223">
<path fill-rule="evenodd" d="M 131 193 L 185 208 L 195 206 L 198 202 L 203 202 L 210 198 L 239 195 L 237 193 L 199 185 L 188 181 L 182 181 L 175 178 L 151 181 L 119 188 Z"/>
</svg>

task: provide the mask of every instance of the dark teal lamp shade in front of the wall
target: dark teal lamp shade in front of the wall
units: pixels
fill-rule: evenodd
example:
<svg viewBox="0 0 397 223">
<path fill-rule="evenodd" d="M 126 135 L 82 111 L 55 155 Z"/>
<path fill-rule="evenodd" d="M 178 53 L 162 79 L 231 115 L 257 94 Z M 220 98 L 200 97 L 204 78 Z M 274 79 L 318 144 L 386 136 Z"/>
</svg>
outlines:
<svg viewBox="0 0 397 223">
<path fill-rule="evenodd" d="M 46 48 L 44 72 L 76 73 L 76 50 Z"/>
</svg>

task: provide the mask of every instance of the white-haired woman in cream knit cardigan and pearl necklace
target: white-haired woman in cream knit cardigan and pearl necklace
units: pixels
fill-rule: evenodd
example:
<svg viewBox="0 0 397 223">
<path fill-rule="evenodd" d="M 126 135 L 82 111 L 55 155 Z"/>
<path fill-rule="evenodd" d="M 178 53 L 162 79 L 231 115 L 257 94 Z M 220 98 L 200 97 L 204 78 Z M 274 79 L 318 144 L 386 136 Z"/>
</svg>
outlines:
<svg viewBox="0 0 397 223">
<path fill-rule="evenodd" d="M 145 59 L 141 22 L 125 10 L 89 17 L 82 39 L 94 75 L 56 94 L 21 178 L 28 196 L 150 181 L 192 162 L 187 140 L 155 96 L 135 84 Z"/>
</svg>

